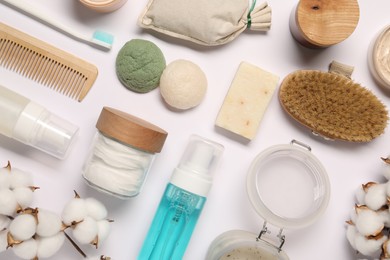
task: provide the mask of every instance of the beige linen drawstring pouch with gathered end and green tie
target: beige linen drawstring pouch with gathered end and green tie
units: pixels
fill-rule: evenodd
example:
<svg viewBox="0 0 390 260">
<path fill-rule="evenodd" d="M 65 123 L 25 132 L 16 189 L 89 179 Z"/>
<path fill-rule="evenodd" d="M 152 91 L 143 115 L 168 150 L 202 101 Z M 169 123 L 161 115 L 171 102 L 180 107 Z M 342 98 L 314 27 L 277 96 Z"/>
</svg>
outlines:
<svg viewBox="0 0 390 260">
<path fill-rule="evenodd" d="M 138 19 L 142 28 L 197 44 L 216 46 L 244 30 L 268 31 L 271 7 L 256 0 L 149 0 Z"/>
</svg>

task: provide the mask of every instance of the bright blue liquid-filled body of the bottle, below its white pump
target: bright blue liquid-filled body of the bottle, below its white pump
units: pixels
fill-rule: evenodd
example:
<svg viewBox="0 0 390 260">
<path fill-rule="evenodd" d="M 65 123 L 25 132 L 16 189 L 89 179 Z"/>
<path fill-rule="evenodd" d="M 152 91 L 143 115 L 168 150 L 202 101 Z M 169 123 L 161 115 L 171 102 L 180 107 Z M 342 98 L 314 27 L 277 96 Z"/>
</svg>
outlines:
<svg viewBox="0 0 390 260">
<path fill-rule="evenodd" d="M 182 259 L 205 202 L 168 184 L 138 259 Z"/>
</svg>

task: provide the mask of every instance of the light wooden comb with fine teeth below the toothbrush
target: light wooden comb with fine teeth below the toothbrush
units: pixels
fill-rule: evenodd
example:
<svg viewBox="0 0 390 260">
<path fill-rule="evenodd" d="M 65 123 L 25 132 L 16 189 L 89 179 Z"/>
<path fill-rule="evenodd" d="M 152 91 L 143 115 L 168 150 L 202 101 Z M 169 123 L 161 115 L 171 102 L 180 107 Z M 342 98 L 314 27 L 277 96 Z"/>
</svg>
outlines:
<svg viewBox="0 0 390 260">
<path fill-rule="evenodd" d="M 95 65 L 3 23 L 0 23 L 0 66 L 79 102 L 98 74 Z"/>
</svg>

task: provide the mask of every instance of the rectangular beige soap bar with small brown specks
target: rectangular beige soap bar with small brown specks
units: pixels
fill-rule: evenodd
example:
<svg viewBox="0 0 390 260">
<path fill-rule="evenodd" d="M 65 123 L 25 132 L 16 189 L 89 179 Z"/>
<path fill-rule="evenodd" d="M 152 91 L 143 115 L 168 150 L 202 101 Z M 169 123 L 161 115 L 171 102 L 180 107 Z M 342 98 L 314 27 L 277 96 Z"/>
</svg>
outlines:
<svg viewBox="0 0 390 260">
<path fill-rule="evenodd" d="M 215 124 L 252 140 L 279 82 L 279 76 L 241 62 Z"/>
</svg>

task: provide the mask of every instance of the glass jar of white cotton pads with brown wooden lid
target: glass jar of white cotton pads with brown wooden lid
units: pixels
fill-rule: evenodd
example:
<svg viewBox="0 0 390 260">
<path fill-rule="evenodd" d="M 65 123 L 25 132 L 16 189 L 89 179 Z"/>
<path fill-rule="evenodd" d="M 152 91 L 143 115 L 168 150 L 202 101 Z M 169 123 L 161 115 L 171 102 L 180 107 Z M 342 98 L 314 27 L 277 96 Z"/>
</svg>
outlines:
<svg viewBox="0 0 390 260">
<path fill-rule="evenodd" d="M 82 175 L 93 188 L 121 199 L 137 196 L 167 132 L 143 119 L 104 107 Z"/>
</svg>

